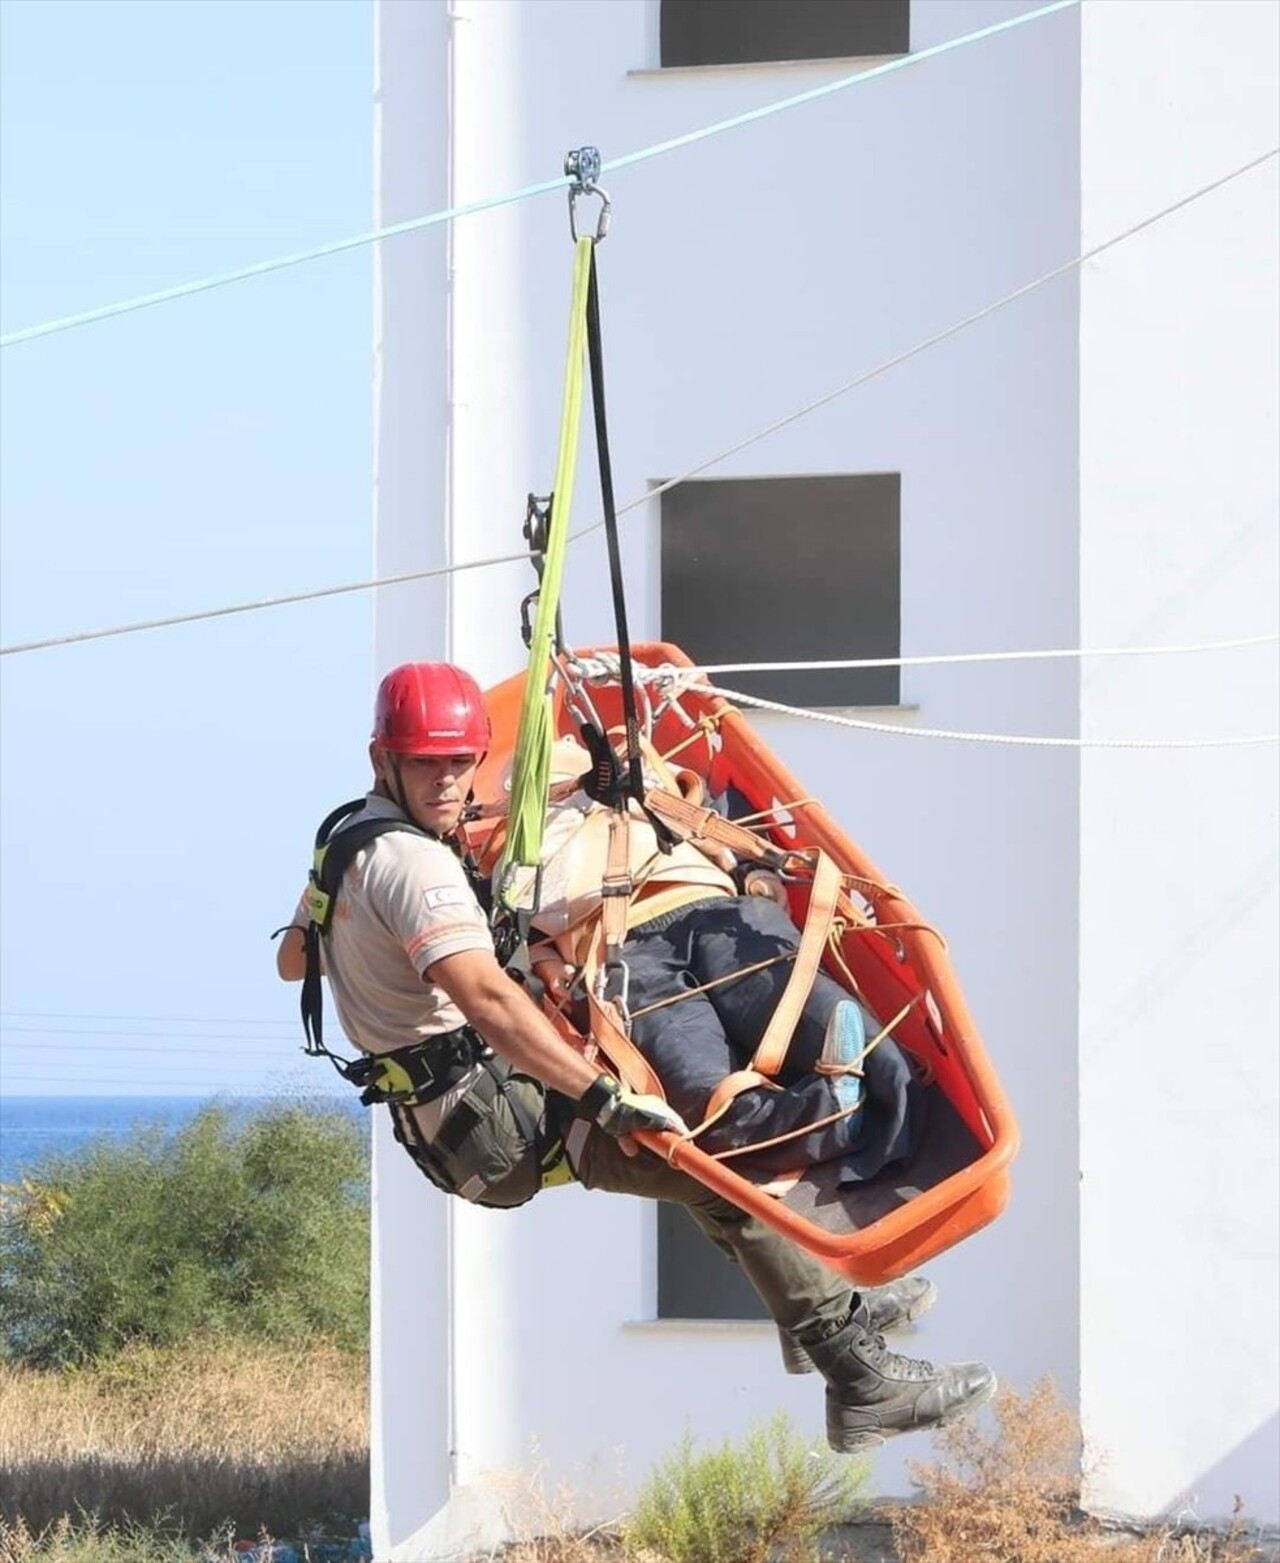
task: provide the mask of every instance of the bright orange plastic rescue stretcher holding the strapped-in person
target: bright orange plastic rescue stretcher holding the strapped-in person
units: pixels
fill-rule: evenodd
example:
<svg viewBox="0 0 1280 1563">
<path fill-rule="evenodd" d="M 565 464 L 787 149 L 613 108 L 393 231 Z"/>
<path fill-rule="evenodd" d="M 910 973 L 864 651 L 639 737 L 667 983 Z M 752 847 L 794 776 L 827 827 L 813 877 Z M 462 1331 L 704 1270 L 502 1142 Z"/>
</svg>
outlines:
<svg viewBox="0 0 1280 1563">
<path fill-rule="evenodd" d="M 592 658 L 614 653 L 577 655 L 591 666 Z M 750 828 L 763 841 L 794 853 L 819 849 L 841 871 L 844 889 L 822 950 L 822 967 L 844 988 L 860 993 L 881 1021 L 897 1018 L 894 1039 L 927 1082 L 928 1100 L 914 1158 L 869 1183 L 846 1188 L 836 1182 L 838 1164 L 821 1163 L 797 1169 L 796 1179 L 781 1180 L 783 1191 L 775 1194 L 738 1174 L 731 1160 L 703 1152 L 695 1139 L 641 1138 L 649 1149 L 850 1282 L 878 1285 L 914 1271 L 1000 1214 L 1019 1144 L 1017 1124 L 964 1003 L 946 944 L 769 752 L 742 714 L 708 689 L 681 650 L 653 642 L 631 647 L 631 658 L 639 669 L 674 672 L 667 696 L 645 700 L 652 716 L 649 744 L 672 766 L 694 772 L 706 797 L 731 788 L 747 799 L 758 813 Z M 681 677 L 680 671 L 688 672 Z M 516 742 L 524 683 L 520 674 L 486 692 L 494 742 L 477 775 L 475 799 L 489 817 L 469 825 L 470 844 L 481 857 L 503 811 L 503 777 Z M 577 736 L 577 719 L 564 694 L 556 681 L 555 731 Z M 624 725 L 616 678 L 592 678 L 589 696 L 606 728 Z M 811 878 L 788 883 L 797 928 L 806 924 L 811 889 Z M 550 1003 L 547 1013 L 569 1041 L 583 1050 L 597 1046 L 614 1071 L 628 1077 L 627 1061 L 613 1057 L 606 1038 L 577 1032 Z"/>
</svg>

